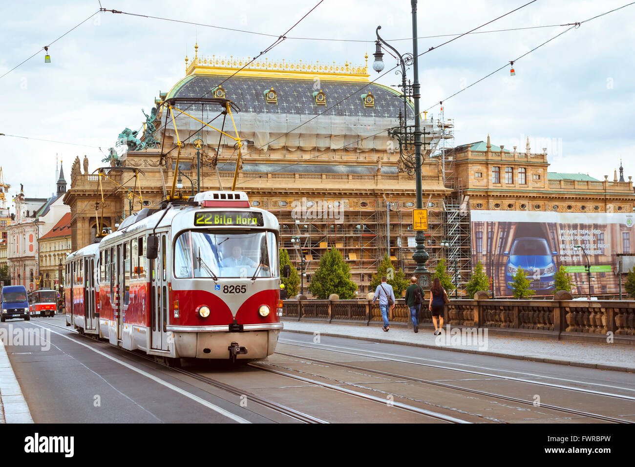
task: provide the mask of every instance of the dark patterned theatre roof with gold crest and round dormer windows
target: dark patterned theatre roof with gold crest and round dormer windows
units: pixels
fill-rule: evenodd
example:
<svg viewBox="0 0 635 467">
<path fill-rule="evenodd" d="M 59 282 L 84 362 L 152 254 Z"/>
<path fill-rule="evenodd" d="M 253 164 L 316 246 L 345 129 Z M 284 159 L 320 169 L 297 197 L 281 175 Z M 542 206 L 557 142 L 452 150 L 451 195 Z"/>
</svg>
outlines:
<svg viewBox="0 0 635 467">
<path fill-rule="evenodd" d="M 225 98 L 241 112 L 255 114 L 317 115 L 396 118 L 403 112 L 401 94 L 377 83 L 370 83 L 366 67 L 349 64 L 303 64 L 290 62 L 253 62 L 234 58 L 198 58 L 187 66 L 187 76 L 168 93 L 171 97 L 214 97 L 222 83 Z M 240 71 L 239 71 L 240 70 Z M 238 71 L 238 72 L 237 72 Z M 236 76 L 232 74 L 236 73 Z M 229 78 L 229 79 L 228 79 Z M 227 80 L 227 81 L 225 81 Z M 275 91 L 275 100 L 267 91 Z M 319 105 L 319 91 L 326 104 Z M 348 97 L 352 95 L 351 97 Z M 192 106 L 196 111 L 196 107 Z M 408 116 L 413 107 L 408 106 Z"/>
</svg>

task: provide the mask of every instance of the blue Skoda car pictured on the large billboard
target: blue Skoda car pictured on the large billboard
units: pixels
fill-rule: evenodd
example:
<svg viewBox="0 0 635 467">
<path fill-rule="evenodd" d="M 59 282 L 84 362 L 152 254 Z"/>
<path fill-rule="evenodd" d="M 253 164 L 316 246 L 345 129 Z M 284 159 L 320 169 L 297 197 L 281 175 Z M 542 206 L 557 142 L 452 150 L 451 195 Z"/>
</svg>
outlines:
<svg viewBox="0 0 635 467">
<path fill-rule="evenodd" d="M 518 269 L 523 269 L 525 276 L 531 281 L 531 290 L 547 292 L 552 289 L 556 283 L 554 280 L 556 264 L 553 257 L 557 254 L 558 252 L 549 249 L 549 243 L 544 238 L 515 238 L 511 250 L 504 252 L 507 256 L 505 265 L 507 288 L 511 289 Z"/>
</svg>

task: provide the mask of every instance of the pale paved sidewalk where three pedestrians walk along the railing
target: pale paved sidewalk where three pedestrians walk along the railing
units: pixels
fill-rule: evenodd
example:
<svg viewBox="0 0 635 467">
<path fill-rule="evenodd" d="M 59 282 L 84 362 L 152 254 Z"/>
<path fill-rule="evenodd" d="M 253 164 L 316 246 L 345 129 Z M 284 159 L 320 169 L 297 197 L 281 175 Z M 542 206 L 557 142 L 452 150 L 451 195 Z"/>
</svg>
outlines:
<svg viewBox="0 0 635 467">
<path fill-rule="evenodd" d="M 432 349 L 444 349 L 455 352 L 478 353 L 533 362 L 556 363 L 575 367 L 595 368 L 599 370 L 617 370 L 635 373 L 635 348 L 619 344 L 595 344 L 591 342 L 549 341 L 505 337 L 500 335 L 481 336 L 462 343 L 456 342 L 460 334 L 452 339 L 451 335 L 435 336 L 432 328 L 422 327 L 415 334 L 411 328 L 391 327 L 384 332 L 376 326 L 347 325 L 340 323 L 315 323 L 307 321 L 284 320 L 284 331 L 299 332 L 332 337 L 348 337 L 364 341 L 401 344 Z M 471 343 L 471 344 L 470 344 Z"/>
</svg>

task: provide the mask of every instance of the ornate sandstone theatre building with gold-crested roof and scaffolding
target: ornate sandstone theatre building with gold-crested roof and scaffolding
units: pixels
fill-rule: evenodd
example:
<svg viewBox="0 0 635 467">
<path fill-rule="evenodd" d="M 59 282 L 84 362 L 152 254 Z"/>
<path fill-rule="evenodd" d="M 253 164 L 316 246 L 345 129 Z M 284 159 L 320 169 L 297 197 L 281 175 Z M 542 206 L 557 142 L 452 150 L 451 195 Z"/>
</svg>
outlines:
<svg viewBox="0 0 635 467">
<path fill-rule="evenodd" d="M 92 241 L 100 218 L 114 230 L 131 212 L 157 208 L 170 192 L 175 172 L 183 196 L 196 193 L 198 180 L 201 191 L 231 189 L 238 157 L 233 137 L 238 132 L 243 147 L 236 190 L 276 215 L 281 246 L 298 270 L 304 259 L 307 281 L 328 248 L 342 252 L 360 296 L 368 292 L 384 254 L 411 273 L 415 179 L 387 133 L 403 115 L 401 94 L 370 83 L 366 65 L 264 60 L 241 69 L 248 61 L 197 53 L 186 58 L 185 77 L 159 93 L 138 130 L 126 128 L 119 135 L 102 175 L 89 172 L 87 163 L 82 172 L 76 159 L 64 198 L 71 208 L 72 250 Z M 223 114 L 214 98 L 231 100 L 231 115 Z M 170 111 L 165 102 L 171 103 Z M 413 107 L 407 105 L 406 112 L 412 118 Z M 445 257 L 456 264 L 460 284 L 469 277 L 472 210 L 496 204 L 531 210 L 563 197 L 571 201 L 558 201 L 560 205 L 579 206 L 591 196 L 593 201 L 584 201 L 591 209 L 604 210 L 606 200 L 615 198 L 610 204 L 632 212 L 631 182 L 607 190 L 595 184 L 553 184 L 544 152 L 505 151 L 491 146 L 489 138 L 478 151 L 476 143 L 453 147 L 453 122 L 440 117 L 422 116 L 428 269 Z M 493 161 L 499 159 L 502 177 L 512 167 L 514 183 L 487 183 Z M 518 180 L 523 164 L 525 184 Z M 301 248 L 292 238 L 299 239 Z"/>
</svg>

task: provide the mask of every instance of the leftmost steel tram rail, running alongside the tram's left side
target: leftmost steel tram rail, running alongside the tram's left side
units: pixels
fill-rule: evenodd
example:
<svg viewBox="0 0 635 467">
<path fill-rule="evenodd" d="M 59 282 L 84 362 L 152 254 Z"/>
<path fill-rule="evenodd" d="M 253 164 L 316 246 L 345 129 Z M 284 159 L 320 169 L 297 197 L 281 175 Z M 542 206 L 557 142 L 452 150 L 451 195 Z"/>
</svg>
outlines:
<svg viewBox="0 0 635 467">
<path fill-rule="evenodd" d="M 140 358 L 144 358 L 145 360 L 148 360 L 149 362 L 157 363 L 157 364 L 162 365 L 162 366 L 164 366 L 166 368 L 169 368 L 169 369 L 171 369 L 171 370 L 173 370 L 175 372 L 178 372 L 178 373 L 183 374 L 185 376 L 189 376 L 189 377 L 191 377 L 193 379 L 196 379 L 197 381 L 205 382 L 206 384 L 210 384 L 211 386 L 214 386 L 215 388 L 222 389 L 223 391 L 227 391 L 228 393 L 231 393 L 232 395 L 239 396 L 239 397 L 245 396 L 248 400 L 250 400 L 250 402 L 255 402 L 258 405 L 261 405 L 262 407 L 266 407 L 267 409 L 274 410 L 274 412 L 277 412 L 278 414 L 282 414 L 282 415 L 287 416 L 287 417 L 289 417 L 291 419 L 295 419 L 297 421 L 300 421 L 301 423 L 328 423 L 327 421 L 319 419 L 318 417 L 313 417 L 313 416 L 311 416 L 309 414 L 305 414 L 304 412 L 300 412 L 298 410 L 291 409 L 290 407 L 286 407 L 286 405 L 282 405 L 282 404 L 277 403 L 277 402 L 272 402 L 270 400 L 267 400 L 265 398 L 257 396 L 257 395 L 255 395 L 253 393 L 248 392 L 248 391 L 244 391 L 243 389 L 236 388 L 235 386 L 232 386 L 231 384 L 227 384 L 227 383 L 222 382 L 222 381 L 217 381 L 217 380 L 212 379 L 210 377 L 203 376 L 201 374 L 197 374 L 197 373 L 194 373 L 194 372 L 190 372 L 188 370 L 184 370 L 184 369 L 181 369 L 181 368 L 177 368 L 177 367 L 173 367 L 173 366 L 167 365 L 166 363 L 161 362 L 161 360 L 157 360 L 155 358 L 152 358 L 152 356 L 142 355 L 140 353 L 136 353 L 135 351 L 131 351 L 131 350 L 124 349 L 124 348 L 121 348 L 119 346 L 116 346 L 116 345 L 114 345 L 114 344 L 112 344 L 112 343 L 110 343 L 108 341 L 102 341 L 100 339 L 95 339 L 94 337 L 91 337 L 91 335 L 89 335 L 89 334 L 81 334 L 74 328 L 69 328 L 67 326 L 60 326 L 60 325 L 51 323 L 50 321 L 43 321 L 43 320 L 34 320 L 34 321 L 45 323 L 47 325 L 50 325 L 50 326 L 53 326 L 53 327 L 57 327 L 57 328 L 60 328 L 60 329 L 63 329 L 63 330 L 67 330 L 67 331 L 72 332 L 73 334 L 80 335 L 82 337 L 87 337 L 88 339 L 90 339 L 93 342 L 102 342 L 103 344 L 107 344 L 107 346 L 109 346 L 109 347 L 112 347 L 114 349 L 118 349 L 120 351 L 125 351 L 126 353 L 130 353 L 131 355 L 134 355 L 134 356 L 137 356 L 137 357 L 140 357 Z M 231 401 L 229 401 L 229 402 L 231 402 Z M 246 409 L 246 410 L 249 410 L 249 409 Z M 253 410 L 249 410 L 249 411 L 258 414 L 258 412 L 254 412 Z M 258 415 L 263 416 L 263 414 L 258 414 Z"/>
</svg>

